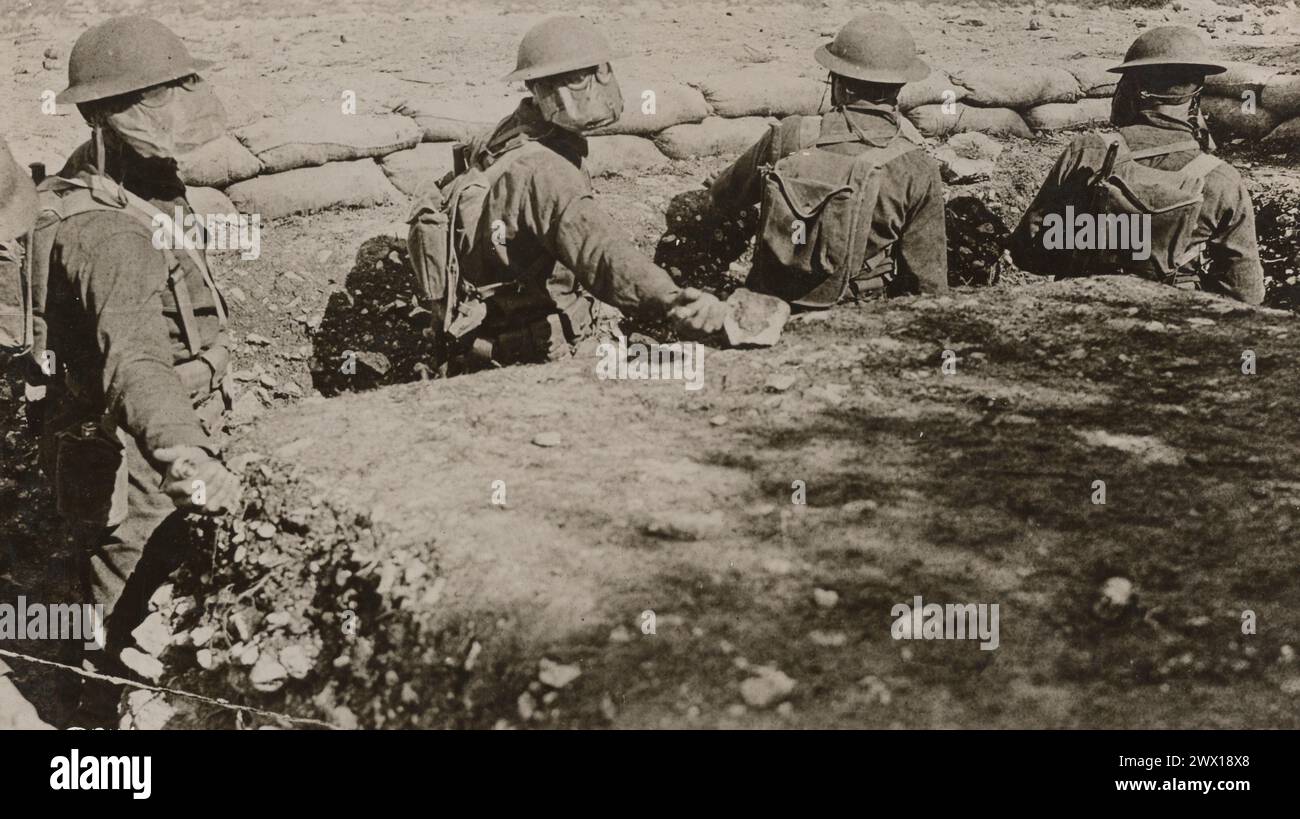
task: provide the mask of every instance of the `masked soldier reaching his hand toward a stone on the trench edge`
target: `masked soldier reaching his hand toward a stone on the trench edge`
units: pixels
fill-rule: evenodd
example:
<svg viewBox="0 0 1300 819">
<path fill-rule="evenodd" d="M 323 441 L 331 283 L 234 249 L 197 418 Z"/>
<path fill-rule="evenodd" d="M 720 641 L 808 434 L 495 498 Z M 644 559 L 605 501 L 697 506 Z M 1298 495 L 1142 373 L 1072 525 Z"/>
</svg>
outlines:
<svg viewBox="0 0 1300 819">
<path fill-rule="evenodd" d="M 585 134 L 623 113 L 610 58 L 584 20 L 534 26 L 506 77 L 532 96 L 491 134 L 458 146 L 454 174 L 416 203 L 408 247 L 445 372 L 594 348 L 616 317 L 607 306 L 667 318 L 685 338 L 723 326 L 724 304 L 679 287 L 595 203 Z"/>
</svg>

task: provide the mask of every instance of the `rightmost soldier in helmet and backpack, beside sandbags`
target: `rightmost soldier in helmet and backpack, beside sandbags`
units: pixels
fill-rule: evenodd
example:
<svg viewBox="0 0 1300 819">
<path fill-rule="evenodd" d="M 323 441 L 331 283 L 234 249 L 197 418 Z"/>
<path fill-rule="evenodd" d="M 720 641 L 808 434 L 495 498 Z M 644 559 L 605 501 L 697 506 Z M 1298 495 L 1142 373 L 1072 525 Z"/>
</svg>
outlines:
<svg viewBox="0 0 1300 819">
<path fill-rule="evenodd" d="M 1082 134 L 1066 147 L 1011 235 L 1013 259 L 1041 276 L 1127 273 L 1258 304 L 1254 207 L 1236 169 L 1208 153 L 1200 116 L 1205 77 L 1226 68 L 1196 31 L 1162 26 L 1110 70 L 1122 75 L 1110 109 L 1118 135 Z M 1061 240 L 1087 220 L 1097 220 L 1092 235 Z M 1118 228 L 1134 247 L 1114 247 L 1124 243 Z"/>
</svg>

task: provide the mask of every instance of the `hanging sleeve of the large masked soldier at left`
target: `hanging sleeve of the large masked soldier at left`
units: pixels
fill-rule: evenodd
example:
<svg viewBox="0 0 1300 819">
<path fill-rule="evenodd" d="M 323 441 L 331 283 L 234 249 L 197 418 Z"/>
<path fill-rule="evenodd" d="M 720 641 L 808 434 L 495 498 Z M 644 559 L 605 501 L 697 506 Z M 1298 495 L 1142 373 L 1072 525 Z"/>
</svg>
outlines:
<svg viewBox="0 0 1300 819">
<path fill-rule="evenodd" d="M 90 238 L 90 237 L 87 237 Z M 73 248 L 64 265 L 95 326 L 105 404 L 146 450 L 213 450 L 173 368 L 162 315 L 166 265 L 143 233 L 122 231 Z"/>
</svg>

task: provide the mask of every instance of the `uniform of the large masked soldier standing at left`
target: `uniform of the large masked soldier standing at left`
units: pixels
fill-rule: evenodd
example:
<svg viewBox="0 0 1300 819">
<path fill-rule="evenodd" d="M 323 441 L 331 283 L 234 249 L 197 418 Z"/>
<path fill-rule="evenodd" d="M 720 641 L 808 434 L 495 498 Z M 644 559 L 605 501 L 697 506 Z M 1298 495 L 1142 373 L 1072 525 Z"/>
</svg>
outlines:
<svg viewBox="0 0 1300 819">
<path fill-rule="evenodd" d="M 74 178 L 83 156 L 58 176 Z M 174 176 L 108 172 L 162 213 L 188 212 Z M 46 320 L 60 373 L 42 454 L 73 545 L 88 556 L 84 580 L 109 615 L 116 656 L 185 542 L 185 512 L 160 490 L 165 469 L 151 454 L 220 447 L 225 306 L 203 251 L 156 250 L 150 226 L 122 209 L 88 209 L 55 230 Z"/>
</svg>

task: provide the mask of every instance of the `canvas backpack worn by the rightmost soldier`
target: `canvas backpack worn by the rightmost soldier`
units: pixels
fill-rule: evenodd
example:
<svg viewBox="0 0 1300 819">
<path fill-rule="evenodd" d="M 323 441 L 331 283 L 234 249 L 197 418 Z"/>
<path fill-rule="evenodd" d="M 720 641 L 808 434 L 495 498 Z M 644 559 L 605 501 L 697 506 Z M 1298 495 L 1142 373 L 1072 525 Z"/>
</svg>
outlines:
<svg viewBox="0 0 1300 819">
<path fill-rule="evenodd" d="M 1075 250 L 1070 273 L 1118 269 L 1169 283 L 1193 281 L 1196 274 L 1188 269 L 1195 268 L 1193 263 L 1204 250 L 1204 242 L 1193 242 L 1192 234 L 1205 200 L 1205 178 L 1222 160 L 1200 153 L 1200 143 L 1195 139 L 1141 151 L 1131 151 L 1122 134 L 1108 134 L 1104 139 L 1106 157 L 1078 204 L 1086 213 L 1119 217 L 1130 225 L 1134 218 L 1149 217 L 1147 239 L 1150 256 L 1134 259 L 1132 248 Z M 1152 168 L 1139 161 L 1180 151 L 1199 153 L 1178 170 Z M 1066 229 L 1071 226 L 1066 225 Z M 1095 230 L 1102 230 L 1100 220 Z"/>
</svg>

